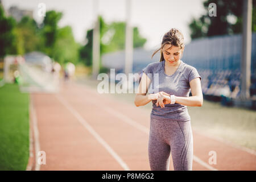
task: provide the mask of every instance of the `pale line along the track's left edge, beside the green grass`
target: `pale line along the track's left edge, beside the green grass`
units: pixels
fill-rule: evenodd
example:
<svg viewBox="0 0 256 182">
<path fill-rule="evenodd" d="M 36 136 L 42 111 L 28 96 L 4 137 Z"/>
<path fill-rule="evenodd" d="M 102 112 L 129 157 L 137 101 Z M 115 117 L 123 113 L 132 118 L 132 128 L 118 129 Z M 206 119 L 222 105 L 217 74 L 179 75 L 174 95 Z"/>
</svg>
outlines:
<svg viewBox="0 0 256 182">
<path fill-rule="evenodd" d="M 32 100 L 32 96 L 30 96 L 30 103 L 31 103 L 31 111 L 32 111 L 32 122 L 33 122 L 33 129 L 34 129 L 34 139 L 35 139 L 35 171 L 40 171 L 40 164 L 39 164 L 39 151 L 40 151 L 40 143 L 39 143 L 39 131 L 38 131 L 38 118 L 36 117 L 36 110 L 34 107 L 34 103 Z"/>
</svg>

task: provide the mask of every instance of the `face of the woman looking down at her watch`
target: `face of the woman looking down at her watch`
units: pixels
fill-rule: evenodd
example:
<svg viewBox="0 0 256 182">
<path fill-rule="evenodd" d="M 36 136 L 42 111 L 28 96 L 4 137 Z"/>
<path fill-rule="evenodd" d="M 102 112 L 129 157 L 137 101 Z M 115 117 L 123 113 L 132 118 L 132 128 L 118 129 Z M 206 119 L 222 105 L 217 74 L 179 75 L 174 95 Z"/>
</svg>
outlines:
<svg viewBox="0 0 256 182">
<path fill-rule="evenodd" d="M 180 57 L 183 53 L 183 49 L 177 46 L 171 46 L 170 44 L 164 45 L 162 51 L 164 60 L 166 60 L 166 64 L 172 66 L 176 65 L 179 62 Z"/>
</svg>

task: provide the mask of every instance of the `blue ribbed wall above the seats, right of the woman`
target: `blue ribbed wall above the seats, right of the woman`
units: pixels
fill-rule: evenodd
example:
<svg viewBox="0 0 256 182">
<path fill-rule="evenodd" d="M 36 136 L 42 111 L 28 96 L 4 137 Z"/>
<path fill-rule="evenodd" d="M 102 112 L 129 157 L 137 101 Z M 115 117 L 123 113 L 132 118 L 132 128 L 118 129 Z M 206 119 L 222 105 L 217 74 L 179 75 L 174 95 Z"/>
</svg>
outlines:
<svg viewBox="0 0 256 182">
<path fill-rule="evenodd" d="M 193 40 L 185 46 L 183 60 L 197 69 L 240 70 L 241 35 L 214 36 Z M 256 34 L 252 36 L 251 74 L 256 71 Z"/>
</svg>

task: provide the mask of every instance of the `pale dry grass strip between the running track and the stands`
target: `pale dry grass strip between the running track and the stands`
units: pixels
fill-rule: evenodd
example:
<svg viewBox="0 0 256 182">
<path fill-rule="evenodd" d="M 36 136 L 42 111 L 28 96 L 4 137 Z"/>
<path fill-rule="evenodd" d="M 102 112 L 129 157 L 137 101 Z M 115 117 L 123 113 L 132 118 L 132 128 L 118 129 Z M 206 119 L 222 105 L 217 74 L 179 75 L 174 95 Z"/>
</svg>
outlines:
<svg viewBox="0 0 256 182">
<path fill-rule="evenodd" d="M 77 82 L 97 89 L 97 84 L 101 81 L 97 82 L 84 77 Z M 134 105 L 135 94 L 107 95 Z M 138 109 L 150 111 L 152 103 L 138 107 Z M 193 129 L 256 150 L 256 112 L 254 110 L 225 107 L 219 102 L 204 100 L 201 107 L 188 106 L 188 113 L 191 116 Z"/>
</svg>

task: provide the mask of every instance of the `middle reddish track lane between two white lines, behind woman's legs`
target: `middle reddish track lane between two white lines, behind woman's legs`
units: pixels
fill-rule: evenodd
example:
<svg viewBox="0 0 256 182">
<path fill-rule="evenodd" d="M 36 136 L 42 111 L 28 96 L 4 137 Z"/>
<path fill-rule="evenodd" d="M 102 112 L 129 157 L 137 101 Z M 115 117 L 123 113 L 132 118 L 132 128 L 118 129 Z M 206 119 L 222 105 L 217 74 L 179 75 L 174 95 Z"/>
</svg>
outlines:
<svg viewBox="0 0 256 182">
<path fill-rule="evenodd" d="M 72 90 L 72 91 L 71 91 Z M 90 90 L 92 91 L 92 90 Z M 88 121 L 93 121 L 93 118 L 96 118 L 96 117 L 99 117 L 100 119 L 100 122 L 95 124 L 95 123 L 91 123 L 91 125 L 94 127 L 95 130 L 97 130 L 98 133 L 102 133 L 102 136 L 105 136 L 104 138 L 106 138 L 106 140 L 108 140 L 108 143 L 112 143 L 112 147 L 115 148 L 117 147 L 117 149 L 115 149 L 115 151 L 118 151 L 118 145 L 113 142 L 114 140 L 116 140 L 116 137 L 114 138 L 109 138 L 108 139 L 108 136 L 106 134 L 104 134 L 105 132 L 105 126 L 102 127 L 99 127 L 101 125 L 101 119 L 104 119 L 105 122 L 108 122 L 110 124 L 108 125 L 119 125 L 118 128 L 120 130 L 122 130 L 122 128 L 126 129 L 129 127 L 131 131 L 129 131 L 129 133 L 133 133 L 135 135 L 135 133 L 137 134 L 138 132 L 139 133 L 143 133 L 141 131 L 139 131 L 138 129 L 135 129 L 134 126 L 131 126 L 131 125 L 127 125 L 127 123 L 123 122 L 123 120 L 125 120 L 125 118 L 117 118 L 116 115 L 118 114 L 125 114 L 125 115 L 129 115 L 129 117 L 131 115 L 134 115 L 135 113 L 137 114 L 137 116 L 139 118 L 141 118 L 142 120 L 136 120 L 135 122 L 138 122 L 139 125 L 142 125 L 144 127 L 147 128 L 147 130 L 149 131 L 149 127 L 150 127 L 150 118 L 147 117 L 148 114 L 144 113 L 144 110 L 139 108 L 139 107 L 135 107 L 135 109 L 139 109 L 142 111 L 143 114 L 141 114 L 141 112 L 139 110 L 132 110 L 131 111 L 131 105 L 128 105 L 128 104 L 121 104 L 120 102 L 114 102 L 111 98 L 108 98 L 108 97 L 105 97 L 103 95 L 100 95 L 100 94 L 97 94 L 97 93 L 94 93 L 94 92 L 90 92 L 88 90 L 84 90 L 84 88 L 79 88 L 77 86 L 72 86 L 72 89 L 64 89 L 63 92 L 61 92 L 61 95 L 64 97 L 64 98 L 67 98 L 68 102 L 74 107 L 76 108 L 77 111 L 79 111 L 79 113 L 81 115 L 83 115 L 83 117 L 89 117 L 87 120 Z M 81 94 L 84 94 L 86 97 L 79 97 L 79 99 L 75 99 L 73 98 L 72 96 L 81 96 Z M 95 95 L 97 95 L 95 97 Z M 68 99 L 70 98 L 70 99 Z M 82 103 L 81 103 L 82 102 Z M 98 103 L 98 104 L 96 104 Z M 101 103 L 101 104 L 99 104 Z M 80 105 L 80 106 L 79 106 Z M 81 107 L 84 106 L 84 109 L 82 109 Z M 87 107 L 87 105 L 89 105 L 89 107 Z M 98 107 L 98 111 L 99 111 L 99 115 L 97 115 L 97 112 L 94 113 L 93 115 L 91 115 L 92 113 L 86 113 L 86 110 L 88 110 L 90 107 L 94 107 L 94 105 L 96 105 L 96 107 Z M 124 105 L 124 106 L 123 106 Z M 106 108 L 105 108 L 106 107 Z M 118 110 L 118 113 L 109 113 L 109 112 L 106 112 L 106 110 L 109 110 L 110 108 L 112 109 L 112 107 L 114 107 L 114 109 L 117 109 Z M 120 112 L 119 109 L 121 109 L 123 111 Z M 129 112 L 127 112 L 129 111 Z M 135 113 L 134 113 L 135 112 Z M 82 114 L 84 113 L 84 114 Z M 128 113 L 128 114 L 127 114 Z M 104 118 L 101 118 L 101 115 L 105 115 Z M 90 115 L 90 116 L 89 116 Z M 90 118 L 91 117 L 91 118 Z M 146 119 L 146 118 L 148 119 Z M 94 125 L 95 124 L 95 125 Z M 134 130 L 135 129 L 135 130 Z M 126 131 L 123 131 L 122 130 L 122 133 L 124 133 Z M 109 131 L 109 133 L 116 133 L 115 130 L 113 131 Z M 126 142 L 126 140 L 130 140 L 129 139 L 129 133 L 126 134 L 126 139 L 123 140 L 123 142 Z M 141 135 L 141 134 L 139 134 Z M 144 133 L 142 135 L 142 137 L 139 137 L 138 138 L 139 140 L 143 140 L 143 142 L 141 142 L 141 144 L 137 145 L 138 140 L 134 140 L 134 142 L 132 143 L 129 143 L 130 145 L 130 150 L 131 148 L 133 147 L 136 147 L 137 149 L 139 149 L 138 147 L 141 147 L 139 150 L 140 151 L 143 151 L 142 152 L 142 155 L 141 157 L 138 156 L 138 154 L 136 155 L 137 156 L 137 160 L 138 159 L 143 159 L 143 163 L 146 164 L 146 168 L 138 168 L 138 164 L 135 164 L 135 168 L 132 168 L 131 166 L 134 166 L 134 162 L 131 162 L 131 164 L 129 162 L 127 162 L 127 164 L 129 165 L 129 167 L 131 167 L 132 170 L 149 170 L 149 164 L 148 164 L 148 153 L 147 153 L 147 146 L 148 146 L 148 134 Z M 122 156 L 123 154 L 123 151 L 119 151 L 118 154 L 120 154 Z M 141 154 L 141 153 L 140 153 Z M 129 154 L 128 154 L 129 155 Z M 131 156 L 132 157 L 132 156 Z M 124 160 L 126 160 L 125 158 L 123 158 Z M 201 164 L 197 163 L 197 162 L 193 162 L 195 168 L 197 170 L 209 170 L 209 168 L 205 168 L 204 166 L 201 166 Z M 172 164 L 172 160 L 170 161 L 170 169 L 173 170 L 173 164 Z"/>
</svg>

